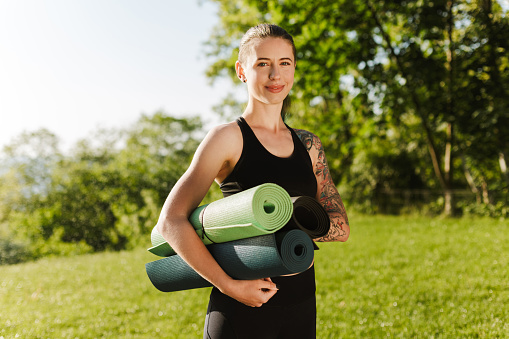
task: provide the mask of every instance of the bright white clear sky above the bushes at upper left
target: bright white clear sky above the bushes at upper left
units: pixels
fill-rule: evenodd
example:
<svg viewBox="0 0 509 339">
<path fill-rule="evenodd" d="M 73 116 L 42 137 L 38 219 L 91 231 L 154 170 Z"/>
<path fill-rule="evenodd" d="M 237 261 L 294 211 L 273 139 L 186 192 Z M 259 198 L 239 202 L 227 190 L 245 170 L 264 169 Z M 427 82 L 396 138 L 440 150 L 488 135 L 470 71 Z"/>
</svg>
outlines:
<svg viewBox="0 0 509 339">
<path fill-rule="evenodd" d="M 159 109 L 216 121 L 232 88 L 205 77 L 217 22 L 199 0 L 0 0 L 0 147 L 45 127 L 65 148 Z"/>
</svg>

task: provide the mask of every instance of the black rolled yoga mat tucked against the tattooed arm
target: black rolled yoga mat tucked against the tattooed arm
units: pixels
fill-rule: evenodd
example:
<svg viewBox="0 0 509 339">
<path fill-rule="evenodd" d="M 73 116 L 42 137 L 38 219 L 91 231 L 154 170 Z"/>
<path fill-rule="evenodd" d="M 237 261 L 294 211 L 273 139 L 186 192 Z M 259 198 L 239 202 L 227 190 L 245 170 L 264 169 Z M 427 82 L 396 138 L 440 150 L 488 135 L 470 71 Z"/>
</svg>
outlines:
<svg viewBox="0 0 509 339">
<path fill-rule="evenodd" d="M 293 213 L 288 228 L 300 229 L 312 239 L 329 233 L 329 214 L 314 198 L 308 196 L 292 197 Z"/>
</svg>

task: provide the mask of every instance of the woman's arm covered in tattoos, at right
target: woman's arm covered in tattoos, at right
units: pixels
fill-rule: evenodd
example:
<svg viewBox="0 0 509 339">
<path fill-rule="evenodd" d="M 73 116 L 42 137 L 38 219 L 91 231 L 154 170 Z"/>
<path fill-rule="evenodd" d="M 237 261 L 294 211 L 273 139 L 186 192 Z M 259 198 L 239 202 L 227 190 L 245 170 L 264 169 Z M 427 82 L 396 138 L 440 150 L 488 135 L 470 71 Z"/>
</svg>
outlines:
<svg viewBox="0 0 509 339">
<path fill-rule="evenodd" d="M 350 225 L 341 196 L 332 181 L 322 142 L 316 135 L 308 131 L 295 130 L 295 132 L 308 150 L 313 163 L 313 171 L 318 184 L 316 199 L 325 208 L 331 221 L 329 233 L 314 240 L 321 242 L 346 241 L 350 235 Z"/>
</svg>

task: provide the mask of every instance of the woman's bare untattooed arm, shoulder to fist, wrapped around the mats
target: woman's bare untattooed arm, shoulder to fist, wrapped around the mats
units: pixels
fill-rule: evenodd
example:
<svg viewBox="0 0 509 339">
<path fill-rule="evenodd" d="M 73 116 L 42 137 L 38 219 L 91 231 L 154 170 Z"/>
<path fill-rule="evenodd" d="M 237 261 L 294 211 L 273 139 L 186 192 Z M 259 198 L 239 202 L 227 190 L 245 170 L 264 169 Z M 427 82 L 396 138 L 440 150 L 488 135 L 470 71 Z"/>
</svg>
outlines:
<svg viewBox="0 0 509 339">
<path fill-rule="evenodd" d="M 268 278 L 232 279 L 212 257 L 188 220 L 218 173 L 229 166 L 235 147 L 239 142 L 242 145 L 236 132 L 238 127 L 230 124 L 216 127 L 207 134 L 191 165 L 168 195 L 157 229 L 189 266 L 222 293 L 248 306 L 261 306 L 277 292 L 275 284 Z"/>
</svg>

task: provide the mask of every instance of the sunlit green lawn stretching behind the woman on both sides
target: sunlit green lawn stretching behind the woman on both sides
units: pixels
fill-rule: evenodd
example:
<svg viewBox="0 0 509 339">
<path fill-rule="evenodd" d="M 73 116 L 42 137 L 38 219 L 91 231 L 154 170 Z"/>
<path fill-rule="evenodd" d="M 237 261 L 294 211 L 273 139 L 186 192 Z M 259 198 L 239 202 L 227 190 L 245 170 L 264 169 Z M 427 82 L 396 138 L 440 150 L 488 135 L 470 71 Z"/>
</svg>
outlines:
<svg viewBox="0 0 509 339">
<path fill-rule="evenodd" d="M 509 222 L 351 216 L 316 252 L 318 338 L 509 337 Z M 201 338 L 209 288 L 150 285 L 145 249 L 0 267 L 0 338 Z"/>
</svg>

